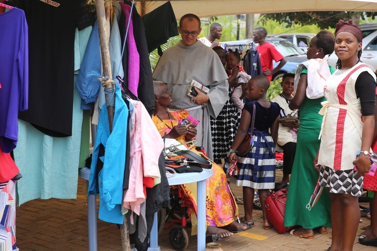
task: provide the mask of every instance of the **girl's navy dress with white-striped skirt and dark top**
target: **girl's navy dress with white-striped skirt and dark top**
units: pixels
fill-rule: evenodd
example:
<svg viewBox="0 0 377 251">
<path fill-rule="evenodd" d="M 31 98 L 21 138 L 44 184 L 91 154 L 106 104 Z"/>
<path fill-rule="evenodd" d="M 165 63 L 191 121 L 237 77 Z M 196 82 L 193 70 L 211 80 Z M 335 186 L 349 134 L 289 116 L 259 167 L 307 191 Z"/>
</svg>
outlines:
<svg viewBox="0 0 377 251">
<path fill-rule="evenodd" d="M 254 147 L 245 156 L 237 155 L 240 169 L 237 186 L 247 186 L 255 189 L 273 189 L 275 187 L 275 147 L 268 129 L 280 114 L 280 106 L 270 102 L 265 108 L 257 101 L 255 103 Z M 253 113 L 252 102 L 244 106 L 250 114 Z M 249 129 L 250 130 L 250 129 Z"/>
</svg>

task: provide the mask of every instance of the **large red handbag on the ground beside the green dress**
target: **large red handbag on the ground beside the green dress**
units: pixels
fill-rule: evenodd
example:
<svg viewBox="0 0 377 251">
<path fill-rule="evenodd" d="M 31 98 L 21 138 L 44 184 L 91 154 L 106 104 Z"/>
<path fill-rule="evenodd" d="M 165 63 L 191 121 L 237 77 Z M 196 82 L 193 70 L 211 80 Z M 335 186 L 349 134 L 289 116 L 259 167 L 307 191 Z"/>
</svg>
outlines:
<svg viewBox="0 0 377 251">
<path fill-rule="evenodd" d="M 284 226 L 284 214 L 286 211 L 288 188 L 283 188 L 265 196 L 264 206 L 266 216 L 271 225 L 276 228 L 278 233 L 285 233 L 298 226 Z"/>
</svg>

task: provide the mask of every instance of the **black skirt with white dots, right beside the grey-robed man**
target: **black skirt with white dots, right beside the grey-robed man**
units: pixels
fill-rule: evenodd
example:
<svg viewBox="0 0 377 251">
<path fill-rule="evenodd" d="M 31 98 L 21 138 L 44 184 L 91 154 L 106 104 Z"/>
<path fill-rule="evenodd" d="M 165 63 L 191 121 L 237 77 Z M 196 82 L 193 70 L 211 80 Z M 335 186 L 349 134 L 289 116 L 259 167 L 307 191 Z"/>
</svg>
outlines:
<svg viewBox="0 0 377 251">
<path fill-rule="evenodd" d="M 228 98 L 216 119 L 211 117 L 213 158 L 225 159 L 238 131 L 241 112 Z"/>
</svg>

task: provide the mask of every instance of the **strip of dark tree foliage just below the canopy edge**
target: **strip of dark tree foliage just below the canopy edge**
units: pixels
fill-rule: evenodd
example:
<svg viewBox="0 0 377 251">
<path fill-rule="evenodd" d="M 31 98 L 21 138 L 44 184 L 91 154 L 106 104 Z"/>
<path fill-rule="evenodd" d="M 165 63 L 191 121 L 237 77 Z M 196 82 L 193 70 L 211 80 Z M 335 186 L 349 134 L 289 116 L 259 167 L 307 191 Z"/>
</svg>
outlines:
<svg viewBox="0 0 377 251">
<path fill-rule="evenodd" d="M 273 20 L 279 24 L 286 24 L 286 28 L 293 25 L 310 25 L 317 24 L 320 29 L 335 28 L 335 24 L 340 20 L 349 20 L 352 17 L 359 16 L 365 20 L 371 18 L 374 20 L 376 12 L 292 12 L 292 13 L 272 13 L 262 14 L 259 22 L 263 25 L 268 20 Z"/>
</svg>

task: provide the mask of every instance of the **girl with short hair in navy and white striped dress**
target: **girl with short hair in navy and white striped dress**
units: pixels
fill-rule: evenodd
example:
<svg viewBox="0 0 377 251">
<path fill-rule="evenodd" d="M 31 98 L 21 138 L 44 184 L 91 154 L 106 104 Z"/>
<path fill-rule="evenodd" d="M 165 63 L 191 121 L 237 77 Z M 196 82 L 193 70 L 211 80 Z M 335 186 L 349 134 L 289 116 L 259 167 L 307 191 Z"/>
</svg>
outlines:
<svg viewBox="0 0 377 251">
<path fill-rule="evenodd" d="M 265 213 L 264 195 L 269 194 L 269 189 L 275 187 L 275 145 L 280 115 L 280 106 L 266 99 L 268 88 L 269 81 L 264 75 L 258 75 L 249 80 L 246 97 L 250 102 L 247 102 L 242 110 L 240 128 L 229 154 L 229 162 L 234 163 L 237 160 L 240 170 L 236 185 L 243 187 L 244 221 L 253 224 L 254 189 L 258 189 L 264 229 L 271 228 Z M 254 147 L 244 156 L 236 155 L 237 148 L 246 134 L 251 131 L 254 107 Z"/>
</svg>

